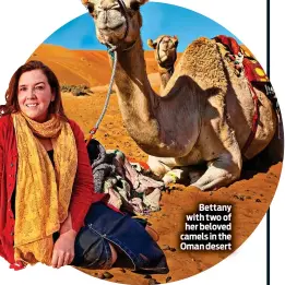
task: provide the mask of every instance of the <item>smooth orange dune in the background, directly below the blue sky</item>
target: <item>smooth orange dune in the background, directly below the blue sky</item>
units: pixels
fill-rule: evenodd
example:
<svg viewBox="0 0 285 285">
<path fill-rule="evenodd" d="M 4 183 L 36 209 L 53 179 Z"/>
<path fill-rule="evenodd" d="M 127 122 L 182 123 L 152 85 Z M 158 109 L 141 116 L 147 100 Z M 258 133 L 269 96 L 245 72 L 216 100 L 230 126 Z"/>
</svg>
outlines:
<svg viewBox="0 0 285 285">
<path fill-rule="evenodd" d="M 145 51 L 147 73 L 157 73 L 153 51 Z M 70 50 L 40 45 L 28 60 L 43 60 L 57 74 L 61 84 L 106 85 L 110 78 L 109 59 L 103 50 Z"/>
</svg>

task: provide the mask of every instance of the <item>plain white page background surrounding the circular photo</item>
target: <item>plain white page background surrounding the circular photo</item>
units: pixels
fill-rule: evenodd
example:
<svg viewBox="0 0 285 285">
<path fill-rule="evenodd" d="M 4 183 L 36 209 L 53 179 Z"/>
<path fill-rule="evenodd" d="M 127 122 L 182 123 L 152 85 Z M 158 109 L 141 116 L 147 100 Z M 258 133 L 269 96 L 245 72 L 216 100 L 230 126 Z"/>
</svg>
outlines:
<svg viewBox="0 0 285 285">
<path fill-rule="evenodd" d="M 225 26 L 245 43 L 262 67 L 266 68 L 265 0 L 163 0 L 204 14 Z M 271 0 L 271 81 L 284 114 L 284 13 L 281 0 Z M 85 13 L 80 0 L 13 0 L 0 2 L 0 104 L 13 72 L 36 47 L 57 28 Z M 253 13 L 252 13 L 253 12 Z M 191 33 L 191 31 L 189 31 Z M 281 74 L 283 73 L 283 74 Z M 284 283 L 284 174 L 271 205 L 271 285 Z M 262 187 L 262 186 L 261 186 Z M 214 268 L 177 284 L 192 285 L 265 285 L 265 218 L 248 240 L 229 258 Z M 9 270 L 0 258 L 0 283 L 9 284 L 110 284 L 72 268 L 54 270 L 41 264 L 19 272 Z"/>
</svg>

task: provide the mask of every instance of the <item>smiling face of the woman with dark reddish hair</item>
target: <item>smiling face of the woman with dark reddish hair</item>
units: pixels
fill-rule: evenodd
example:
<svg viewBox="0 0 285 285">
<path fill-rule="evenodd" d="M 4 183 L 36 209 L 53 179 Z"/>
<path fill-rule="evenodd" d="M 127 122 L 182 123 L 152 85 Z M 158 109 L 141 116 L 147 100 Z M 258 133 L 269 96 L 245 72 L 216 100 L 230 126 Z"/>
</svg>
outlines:
<svg viewBox="0 0 285 285">
<path fill-rule="evenodd" d="M 48 107 L 55 100 L 47 76 L 41 70 L 24 72 L 19 80 L 17 102 L 20 109 L 32 120 L 48 119 Z"/>
</svg>

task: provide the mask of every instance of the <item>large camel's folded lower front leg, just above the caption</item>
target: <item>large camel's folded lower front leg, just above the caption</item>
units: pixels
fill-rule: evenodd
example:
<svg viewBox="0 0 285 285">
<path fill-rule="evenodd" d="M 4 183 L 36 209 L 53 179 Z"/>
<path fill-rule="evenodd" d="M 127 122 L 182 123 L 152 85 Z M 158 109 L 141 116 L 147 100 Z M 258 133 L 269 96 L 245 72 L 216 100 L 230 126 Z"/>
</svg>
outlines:
<svg viewBox="0 0 285 285">
<path fill-rule="evenodd" d="M 239 178 L 241 164 L 235 163 L 229 153 L 222 154 L 218 158 L 207 164 L 207 170 L 191 186 L 202 191 L 227 186 Z"/>
</svg>

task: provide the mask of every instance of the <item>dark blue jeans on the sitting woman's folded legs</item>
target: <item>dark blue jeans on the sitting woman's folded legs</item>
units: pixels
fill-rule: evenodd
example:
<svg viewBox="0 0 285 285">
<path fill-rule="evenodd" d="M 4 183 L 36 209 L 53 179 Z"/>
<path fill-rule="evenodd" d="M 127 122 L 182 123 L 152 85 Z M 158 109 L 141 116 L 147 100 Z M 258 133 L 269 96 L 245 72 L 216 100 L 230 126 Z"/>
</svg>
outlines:
<svg viewBox="0 0 285 285">
<path fill-rule="evenodd" d="M 75 257 L 71 265 L 86 269 L 111 268 L 111 244 L 118 259 L 112 266 L 133 271 L 167 273 L 164 252 L 144 229 L 128 214 L 112 211 L 102 202 L 94 203 L 75 239 Z"/>
</svg>

